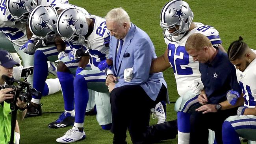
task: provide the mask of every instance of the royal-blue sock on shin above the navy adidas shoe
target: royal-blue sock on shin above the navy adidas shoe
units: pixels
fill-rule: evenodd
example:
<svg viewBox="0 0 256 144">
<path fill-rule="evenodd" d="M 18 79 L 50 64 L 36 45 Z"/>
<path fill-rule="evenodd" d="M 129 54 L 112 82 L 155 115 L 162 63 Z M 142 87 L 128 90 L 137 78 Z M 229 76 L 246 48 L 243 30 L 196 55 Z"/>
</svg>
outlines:
<svg viewBox="0 0 256 144">
<path fill-rule="evenodd" d="M 74 77 L 69 72 L 57 72 L 59 83 L 64 99 L 64 109 L 72 111 L 74 109 Z"/>
</svg>

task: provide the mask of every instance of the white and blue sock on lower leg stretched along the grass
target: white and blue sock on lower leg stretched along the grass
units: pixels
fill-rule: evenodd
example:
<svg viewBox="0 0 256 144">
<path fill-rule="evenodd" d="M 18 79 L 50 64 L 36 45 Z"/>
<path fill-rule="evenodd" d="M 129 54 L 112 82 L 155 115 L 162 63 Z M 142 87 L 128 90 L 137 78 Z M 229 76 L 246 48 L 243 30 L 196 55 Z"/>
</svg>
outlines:
<svg viewBox="0 0 256 144">
<path fill-rule="evenodd" d="M 50 94 L 54 94 L 61 90 L 61 85 L 59 83 L 59 79 L 46 79 L 45 81 L 45 88 L 43 90 L 43 96 L 47 96 Z"/>
</svg>

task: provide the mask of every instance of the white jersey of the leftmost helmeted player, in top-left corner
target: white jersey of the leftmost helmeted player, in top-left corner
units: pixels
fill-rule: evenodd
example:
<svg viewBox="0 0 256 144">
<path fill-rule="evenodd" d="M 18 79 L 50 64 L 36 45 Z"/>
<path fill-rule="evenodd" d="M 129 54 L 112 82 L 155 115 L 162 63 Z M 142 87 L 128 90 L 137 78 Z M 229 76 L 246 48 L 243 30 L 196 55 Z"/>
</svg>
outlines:
<svg viewBox="0 0 256 144">
<path fill-rule="evenodd" d="M 7 11 L 4 2 L 5 0 L 2 0 L 0 3 L 0 31 L 2 31 L 10 41 L 18 46 L 22 46 L 28 41 L 26 24 L 14 20 L 9 11 Z"/>
</svg>

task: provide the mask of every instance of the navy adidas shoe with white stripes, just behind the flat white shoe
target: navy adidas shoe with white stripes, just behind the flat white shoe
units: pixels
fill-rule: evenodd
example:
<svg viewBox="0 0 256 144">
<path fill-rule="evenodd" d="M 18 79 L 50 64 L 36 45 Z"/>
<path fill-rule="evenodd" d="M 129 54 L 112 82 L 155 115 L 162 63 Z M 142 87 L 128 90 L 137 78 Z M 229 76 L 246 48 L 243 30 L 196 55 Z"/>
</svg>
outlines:
<svg viewBox="0 0 256 144">
<path fill-rule="evenodd" d="M 48 124 L 48 127 L 50 128 L 61 128 L 61 127 L 67 127 L 74 125 L 75 117 L 71 116 L 70 113 L 64 112 L 59 115 L 58 120 L 55 122 L 51 122 Z"/>
</svg>

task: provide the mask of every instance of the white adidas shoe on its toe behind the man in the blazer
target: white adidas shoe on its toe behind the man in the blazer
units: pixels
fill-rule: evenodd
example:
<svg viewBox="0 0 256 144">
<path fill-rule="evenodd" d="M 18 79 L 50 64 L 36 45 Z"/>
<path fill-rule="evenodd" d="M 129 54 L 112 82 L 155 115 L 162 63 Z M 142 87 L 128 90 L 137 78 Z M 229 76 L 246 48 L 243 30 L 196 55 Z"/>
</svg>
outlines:
<svg viewBox="0 0 256 144">
<path fill-rule="evenodd" d="M 161 124 L 166 120 L 166 103 L 164 101 L 156 104 L 155 108 L 151 109 L 152 118 L 158 118 L 157 124 Z"/>
</svg>

